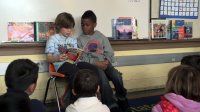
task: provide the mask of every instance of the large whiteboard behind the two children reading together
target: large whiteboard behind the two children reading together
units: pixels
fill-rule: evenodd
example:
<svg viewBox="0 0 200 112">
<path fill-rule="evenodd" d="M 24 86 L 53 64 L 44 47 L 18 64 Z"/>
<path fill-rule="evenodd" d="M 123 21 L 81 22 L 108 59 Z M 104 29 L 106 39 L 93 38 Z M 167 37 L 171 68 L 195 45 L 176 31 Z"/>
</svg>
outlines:
<svg viewBox="0 0 200 112">
<path fill-rule="evenodd" d="M 80 17 L 91 9 L 97 15 L 97 29 L 107 37 L 111 34 L 111 19 L 135 16 L 139 37 L 148 37 L 149 0 L 0 0 L 0 41 L 7 41 L 8 22 L 54 21 L 61 12 L 71 13 L 76 20 L 76 35 L 80 33 Z"/>
</svg>

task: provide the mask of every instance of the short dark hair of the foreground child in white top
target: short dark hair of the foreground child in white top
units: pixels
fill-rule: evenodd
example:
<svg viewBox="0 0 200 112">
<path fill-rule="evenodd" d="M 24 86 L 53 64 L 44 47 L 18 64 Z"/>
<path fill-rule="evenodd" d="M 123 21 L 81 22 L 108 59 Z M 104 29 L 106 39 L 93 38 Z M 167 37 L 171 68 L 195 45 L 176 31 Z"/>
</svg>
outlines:
<svg viewBox="0 0 200 112">
<path fill-rule="evenodd" d="M 80 69 L 77 71 L 73 89 L 78 97 L 95 96 L 99 80 L 95 72 L 88 69 Z"/>
</svg>

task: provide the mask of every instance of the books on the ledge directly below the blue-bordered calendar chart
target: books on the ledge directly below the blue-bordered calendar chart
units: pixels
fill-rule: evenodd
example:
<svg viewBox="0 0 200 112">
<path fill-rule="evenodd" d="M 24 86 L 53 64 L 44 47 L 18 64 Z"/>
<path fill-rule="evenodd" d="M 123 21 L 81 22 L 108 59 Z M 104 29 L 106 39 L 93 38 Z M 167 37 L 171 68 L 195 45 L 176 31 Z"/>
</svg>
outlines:
<svg viewBox="0 0 200 112">
<path fill-rule="evenodd" d="M 192 38 L 192 22 L 184 20 L 152 20 L 151 39 L 182 40 Z"/>
</svg>

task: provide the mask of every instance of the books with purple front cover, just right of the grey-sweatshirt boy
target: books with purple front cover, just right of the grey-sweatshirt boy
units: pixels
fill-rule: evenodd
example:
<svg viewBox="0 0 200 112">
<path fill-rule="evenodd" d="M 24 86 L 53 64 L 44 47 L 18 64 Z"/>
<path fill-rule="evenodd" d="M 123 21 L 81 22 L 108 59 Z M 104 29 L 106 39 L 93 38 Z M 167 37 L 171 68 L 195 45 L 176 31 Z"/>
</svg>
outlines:
<svg viewBox="0 0 200 112">
<path fill-rule="evenodd" d="M 138 26 L 135 17 L 112 19 L 112 38 L 114 40 L 138 39 Z"/>
</svg>

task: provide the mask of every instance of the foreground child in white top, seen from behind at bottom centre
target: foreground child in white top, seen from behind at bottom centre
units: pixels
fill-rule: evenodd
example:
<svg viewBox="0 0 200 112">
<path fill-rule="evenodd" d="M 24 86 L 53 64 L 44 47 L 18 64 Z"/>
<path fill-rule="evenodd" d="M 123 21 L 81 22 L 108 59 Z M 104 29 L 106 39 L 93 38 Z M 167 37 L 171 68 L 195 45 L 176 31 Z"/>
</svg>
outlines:
<svg viewBox="0 0 200 112">
<path fill-rule="evenodd" d="M 74 78 L 73 94 L 78 97 L 65 112 L 110 112 L 97 98 L 99 80 L 97 75 L 88 69 L 80 69 Z"/>
</svg>

